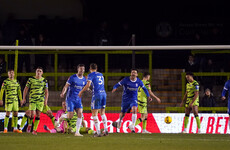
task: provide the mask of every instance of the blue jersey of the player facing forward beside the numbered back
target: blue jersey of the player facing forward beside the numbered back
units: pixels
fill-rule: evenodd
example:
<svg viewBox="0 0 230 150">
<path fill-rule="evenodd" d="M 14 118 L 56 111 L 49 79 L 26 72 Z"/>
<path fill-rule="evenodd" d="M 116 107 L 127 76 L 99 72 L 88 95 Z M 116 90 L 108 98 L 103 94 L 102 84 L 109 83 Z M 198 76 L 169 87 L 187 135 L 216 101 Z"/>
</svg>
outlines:
<svg viewBox="0 0 230 150">
<path fill-rule="evenodd" d="M 77 100 L 79 99 L 78 93 L 86 85 L 87 80 L 84 76 L 79 78 L 76 74 L 74 74 L 69 77 L 66 83 L 69 84 L 66 100 Z"/>
</svg>

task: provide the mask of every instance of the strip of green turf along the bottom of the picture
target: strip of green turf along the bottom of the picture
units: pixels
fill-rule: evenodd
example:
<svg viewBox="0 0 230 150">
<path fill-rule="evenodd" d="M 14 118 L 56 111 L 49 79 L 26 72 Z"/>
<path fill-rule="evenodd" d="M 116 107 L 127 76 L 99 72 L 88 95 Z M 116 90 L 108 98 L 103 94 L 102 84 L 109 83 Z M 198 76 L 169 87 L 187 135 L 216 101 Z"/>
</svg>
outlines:
<svg viewBox="0 0 230 150">
<path fill-rule="evenodd" d="M 71 149 L 126 149 L 126 150 L 227 150 L 229 135 L 214 134 L 109 134 L 93 138 L 92 135 L 74 137 L 70 134 L 0 133 L 1 150 L 71 150 Z"/>
</svg>

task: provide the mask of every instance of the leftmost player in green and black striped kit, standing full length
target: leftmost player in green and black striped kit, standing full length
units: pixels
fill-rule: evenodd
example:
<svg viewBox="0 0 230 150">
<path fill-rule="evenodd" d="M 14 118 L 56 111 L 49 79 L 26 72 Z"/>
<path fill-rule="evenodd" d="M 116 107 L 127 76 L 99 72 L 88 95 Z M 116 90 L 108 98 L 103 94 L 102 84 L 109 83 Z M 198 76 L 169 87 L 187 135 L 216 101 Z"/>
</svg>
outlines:
<svg viewBox="0 0 230 150">
<path fill-rule="evenodd" d="M 22 133 L 21 130 L 18 130 L 18 98 L 22 101 L 22 93 L 19 82 L 14 79 L 14 70 L 8 70 L 8 77 L 2 83 L 1 93 L 0 93 L 0 106 L 3 105 L 3 94 L 5 91 L 5 110 L 6 116 L 4 120 L 4 133 L 7 133 L 7 127 L 9 122 L 10 112 L 13 111 L 12 115 L 12 127 L 14 127 L 13 132 Z"/>
</svg>

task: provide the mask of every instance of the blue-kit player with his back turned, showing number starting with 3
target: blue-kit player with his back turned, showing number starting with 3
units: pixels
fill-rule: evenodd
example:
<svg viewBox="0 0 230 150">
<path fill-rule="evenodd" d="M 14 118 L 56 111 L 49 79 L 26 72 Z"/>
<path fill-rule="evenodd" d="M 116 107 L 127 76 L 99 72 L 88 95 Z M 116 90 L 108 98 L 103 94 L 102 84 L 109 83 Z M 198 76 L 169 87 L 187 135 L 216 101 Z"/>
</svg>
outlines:
<svg viewBox="0 0 230 150">
<path fill-rule="evenodd" d="M 93 116 L 93 121 L 96 128 L 96 134 L 94 137 L 101 137 L 100 133 L 100 123 L 98 120 L 98 112 L 100 111 L 102 122 L 104 124 L 104 136 L 108 135 L 107 129 L 107 117 L 105 115 L 105 107 L 106 107 L 106 92 L 104 87 L 104 77 L 103 74 L 97 72 L 97 64 L 90 64 L 90 74 L 88 75 L 88 81 L 86 86 L 79 92 L 79 97 L 82 96 L 82 93 L 87 90 L 91 83 L 93 86 L 93 96 L 91 100 L 91 111 Z"/>
</svg>

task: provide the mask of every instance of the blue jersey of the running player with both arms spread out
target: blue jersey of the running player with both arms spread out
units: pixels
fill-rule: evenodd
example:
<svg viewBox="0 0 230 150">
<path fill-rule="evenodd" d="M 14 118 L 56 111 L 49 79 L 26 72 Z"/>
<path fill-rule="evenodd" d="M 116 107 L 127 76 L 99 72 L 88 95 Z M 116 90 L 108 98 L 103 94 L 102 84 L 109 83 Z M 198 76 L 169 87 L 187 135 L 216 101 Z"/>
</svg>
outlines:
<svg viewBox="0 0 230 150">
<path fill-rule="evenodd" d="M 137 92 L 139 87 L 141 87 L 146 96 L 149 97 L 147 88 L 139 78 L 137 78 L 136 81 L 131 81 L 130 77 L 125 77 L 123 80 L 114 85 L 113 88 L 116 89 L 119 86 L 123 86 L 122 101 L 137 100 Z"/>
</svg>

